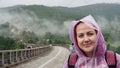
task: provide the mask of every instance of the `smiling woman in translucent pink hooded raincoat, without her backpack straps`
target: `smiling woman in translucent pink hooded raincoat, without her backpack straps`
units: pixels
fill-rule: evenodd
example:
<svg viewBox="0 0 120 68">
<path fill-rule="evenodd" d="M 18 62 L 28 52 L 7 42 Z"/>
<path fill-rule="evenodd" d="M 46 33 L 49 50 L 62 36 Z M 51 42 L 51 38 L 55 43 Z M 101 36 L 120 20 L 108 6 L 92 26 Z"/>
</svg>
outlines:
<svg viewBox="0 0 120 68">
<path fill-rule="evenodd" d="M 106 44 L 102 32 L 91 15 L 74 21 L 69 31 L 78 55 L 75 68 L 109 68 L 105 59 Z M 116 54 L 116 68 L 120 68 L 120 55 Z M 68 59 L 63 68 L 68 67 Z"/>
</svg>

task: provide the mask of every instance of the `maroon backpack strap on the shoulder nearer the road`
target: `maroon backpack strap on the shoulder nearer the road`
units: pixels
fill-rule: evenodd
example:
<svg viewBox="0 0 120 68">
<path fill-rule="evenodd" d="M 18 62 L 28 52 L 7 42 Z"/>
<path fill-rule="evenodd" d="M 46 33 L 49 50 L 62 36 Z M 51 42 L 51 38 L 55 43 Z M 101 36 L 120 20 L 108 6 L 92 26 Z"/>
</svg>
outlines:
<svg viewBox="0 0 120 68">
<path fill-rule="evenodd" d="M 71 53 L 68 58 L 68 68 L 75 68 L 75 63 L 77 62 L 77 53 Z"/>
</svg>

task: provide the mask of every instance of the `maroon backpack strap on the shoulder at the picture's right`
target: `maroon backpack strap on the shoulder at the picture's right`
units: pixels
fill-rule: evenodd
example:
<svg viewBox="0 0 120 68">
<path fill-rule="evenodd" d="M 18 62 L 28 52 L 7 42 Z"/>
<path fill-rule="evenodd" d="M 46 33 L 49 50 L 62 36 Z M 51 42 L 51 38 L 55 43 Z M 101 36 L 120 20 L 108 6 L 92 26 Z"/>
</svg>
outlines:
<svg viewBox="0 0 120 68">
<path fill-rule="evenodd" d="M 116 54 L 113 51 L 106 51 L 105 59 L 109 68 L 116 68 Z"/>
</svg>

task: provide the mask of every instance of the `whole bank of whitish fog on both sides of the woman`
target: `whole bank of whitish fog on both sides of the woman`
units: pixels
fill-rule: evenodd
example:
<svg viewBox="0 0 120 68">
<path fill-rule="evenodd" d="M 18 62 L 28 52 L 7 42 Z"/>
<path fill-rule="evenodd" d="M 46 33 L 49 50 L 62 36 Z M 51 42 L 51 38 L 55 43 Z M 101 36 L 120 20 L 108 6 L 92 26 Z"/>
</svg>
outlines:
<svg viewBox="0 0 120 68">
<path fill-rule="evenodd" d="M 17 29 L 16 33 L 21 31 L 31 31 L 38 36 L 44 35 L 46 32 L 61 35 L 68 34 L 71 20 L 59 22 L 58 20 L 40 19 L 34 12 L 23 9 L 20 10 L 20 12 L 0 10 L 0 24 L 6 22 L 10 23 L 10 28 L 12 28 L 10 31 L 14 32 L 14 30 Z M 95 17 L 103 32 L 109 33 L 113 39 L 119 39 L 120 20 L 118 17 L 114 17 L 112 21 L 109 21 L 102 16 Z M 0 31 L 2 31 L 2 29 L 0 29 Z"/>
</svg>

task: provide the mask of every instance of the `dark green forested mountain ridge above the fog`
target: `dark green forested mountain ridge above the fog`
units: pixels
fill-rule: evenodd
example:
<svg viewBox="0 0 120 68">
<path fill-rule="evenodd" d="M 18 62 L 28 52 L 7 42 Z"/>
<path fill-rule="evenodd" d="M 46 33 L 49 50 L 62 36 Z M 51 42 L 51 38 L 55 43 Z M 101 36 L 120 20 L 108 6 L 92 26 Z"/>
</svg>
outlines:
<svg viewBox="0 0 120 68">
<path fill-rule="evenodd" d="M 80 19 L 86 15 L 103 16 L 109 20 L 115 16 L 119 17 L 119 4 L 93 4 L 74 8 L 67 7 L 48 7 L 43 5 L 17 5 L 0 10 L 8 11 L 9 13 L 25 13 L 29 15 L 33 12 L 39 18 L 53 19 L 59 21 Z"/>
</svg>

